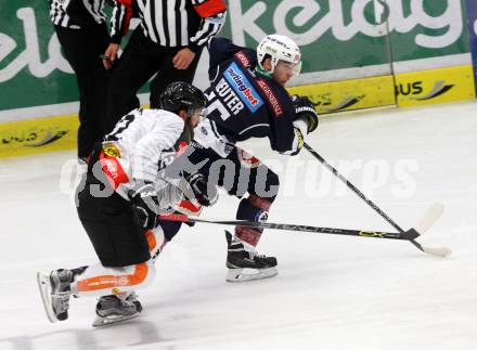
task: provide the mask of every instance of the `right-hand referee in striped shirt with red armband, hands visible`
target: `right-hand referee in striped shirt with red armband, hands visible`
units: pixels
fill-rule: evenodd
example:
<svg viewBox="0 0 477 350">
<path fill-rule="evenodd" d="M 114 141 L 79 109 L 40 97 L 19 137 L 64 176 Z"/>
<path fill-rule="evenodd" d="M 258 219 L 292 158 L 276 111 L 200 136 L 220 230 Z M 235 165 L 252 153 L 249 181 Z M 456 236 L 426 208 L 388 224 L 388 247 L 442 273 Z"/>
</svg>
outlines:
<svg viewBox="0 0 477 350">
<path fill-rule="evenodd" d="M 131 16 L 138 16 L 140 25 L 116 60 Z M 159 108 L 159 96 L 170 82 L 192 82 L 203 48 L 224 21 L 222 0 L 117 0 L 112 43 L 103 61 L 106 69 L 113 68 L 107 99 L 109 128 L 139 107 L 138 90 L 155 74 L 151 82 L 152 108 Z"/>
</svg>

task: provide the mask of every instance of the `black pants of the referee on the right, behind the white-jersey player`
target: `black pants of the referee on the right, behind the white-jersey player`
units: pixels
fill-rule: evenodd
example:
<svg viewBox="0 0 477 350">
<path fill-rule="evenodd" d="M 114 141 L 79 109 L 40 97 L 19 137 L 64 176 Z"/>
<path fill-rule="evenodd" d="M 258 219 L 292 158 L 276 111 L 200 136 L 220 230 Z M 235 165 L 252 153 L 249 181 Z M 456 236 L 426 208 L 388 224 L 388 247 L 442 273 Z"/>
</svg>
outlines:
<svg viewBox="0 0 477 350">
<path fill-rule="evenodd" d="M 151 81 L 150 103 L 152 108 L 159 107 L 159 96 L 165 88 L 173 81 L 192 82 L 202 50 L 186 69 L 176 69 L 172 59 L 184 47 L 162 47 L 144 36 L 138 27 L 131 35 L 123 55 L 112 68 L 109 93 L 107 100 L 108 130 L 130 111 L 140 106 L 137 93 Z"/>
</svg>

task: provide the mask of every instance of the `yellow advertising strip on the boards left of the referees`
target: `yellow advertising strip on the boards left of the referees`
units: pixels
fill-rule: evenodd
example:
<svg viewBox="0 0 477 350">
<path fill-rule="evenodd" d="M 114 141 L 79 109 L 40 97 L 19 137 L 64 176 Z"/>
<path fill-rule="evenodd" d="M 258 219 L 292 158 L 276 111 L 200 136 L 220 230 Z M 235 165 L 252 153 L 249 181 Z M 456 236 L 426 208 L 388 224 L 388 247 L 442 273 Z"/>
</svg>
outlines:
<svg viewBox="0 0 477 350">
<path fill-rule="evenodd" d="M 0 158 L 74 150 L 77 131 L 76 114 L 0 124 Z"/>
</svg>

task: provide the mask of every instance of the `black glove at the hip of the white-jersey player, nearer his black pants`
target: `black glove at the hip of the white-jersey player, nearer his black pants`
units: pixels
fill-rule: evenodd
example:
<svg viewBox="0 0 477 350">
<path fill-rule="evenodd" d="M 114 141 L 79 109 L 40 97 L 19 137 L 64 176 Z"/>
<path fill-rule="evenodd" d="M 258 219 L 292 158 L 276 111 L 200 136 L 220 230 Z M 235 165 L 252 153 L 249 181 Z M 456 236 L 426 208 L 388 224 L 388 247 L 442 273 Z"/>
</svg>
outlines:
<svg viewBox="0 0 477 350">
<path fill-rule="evenodd" d="M 145 230 L 152 230 L 159 224 L 157 212 L 159 210 L 157 192 L 151 183 L 142 183 L 137 189 L 130 190 L 129 198 L 138 215 L 139 223 Z"/>
</svg>

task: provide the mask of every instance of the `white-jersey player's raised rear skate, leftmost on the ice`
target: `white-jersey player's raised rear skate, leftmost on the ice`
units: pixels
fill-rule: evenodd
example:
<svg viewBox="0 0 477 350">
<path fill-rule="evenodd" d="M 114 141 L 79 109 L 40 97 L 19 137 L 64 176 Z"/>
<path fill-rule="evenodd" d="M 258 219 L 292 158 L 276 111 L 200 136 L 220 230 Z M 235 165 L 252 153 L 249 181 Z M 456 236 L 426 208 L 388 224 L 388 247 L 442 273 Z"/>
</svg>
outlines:
<svg viewBox="0 0 477 350">
<path fill-rule="evenodd" d="M 54 323 L 65 321 L 68 317 L 69 308 L 69 283 L 73 272 L 69 270 L 54 270 L 50 275 L 37 273 L 38 288 L 48 320 Z"/>
</svg>

